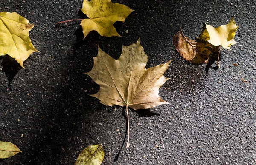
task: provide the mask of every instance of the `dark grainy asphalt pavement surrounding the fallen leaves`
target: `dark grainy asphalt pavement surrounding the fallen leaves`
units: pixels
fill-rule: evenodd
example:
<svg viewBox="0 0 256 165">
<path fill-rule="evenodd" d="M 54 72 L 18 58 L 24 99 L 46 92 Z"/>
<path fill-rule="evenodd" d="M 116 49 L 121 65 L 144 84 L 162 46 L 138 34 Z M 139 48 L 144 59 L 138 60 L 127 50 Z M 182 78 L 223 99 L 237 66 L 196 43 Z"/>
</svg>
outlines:
<svg viewBox="0 0 256 165">
<path fill-rule="evenodd" d="M 73 165 L 82 149 L 102 143 L 103 165 L 255 165 L 255 1 L 112 2 L 135 10 L 114 24 L 123 37 L 91 31 L 83 40 L 80 22 L 55 26 L 86 18 L 79 9 L 82 0 L 0 1 L 0 12 L 17 12 L 35 24 L 30 38 L 40 51 L 26 60 L 26 69 L 0 57 L 0 140 L 23 151 L 0 164 Z M 180 27 L 194 39 L 204 22 L 218 27 L 232 16 L 239 25 L 238 43 L 221 50 L 217 70 L 216 62 L 207 71 L 206 65 L 192 65 L 175 51 L 173 37 Z M 171 79 L 160 88 L 170 105 L 129 110 L 131 146 L 125 148 L 124 108 L 90 97 L 99 86 L 83 73 L 93 67 L 97 45 L 118 59 L 122 45 L 139 37 L 149 56 L 147 67 L 173 59 L 165 74 Z"/>
</svg>

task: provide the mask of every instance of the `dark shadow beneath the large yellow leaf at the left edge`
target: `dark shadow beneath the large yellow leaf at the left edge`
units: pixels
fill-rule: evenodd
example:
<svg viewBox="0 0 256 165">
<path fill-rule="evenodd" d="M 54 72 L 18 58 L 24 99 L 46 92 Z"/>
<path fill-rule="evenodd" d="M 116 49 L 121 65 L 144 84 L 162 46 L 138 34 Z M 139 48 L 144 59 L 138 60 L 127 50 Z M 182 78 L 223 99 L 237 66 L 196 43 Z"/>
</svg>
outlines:
<svg viewBox="0 0 256 165">
<path fill-rule="evenodd" d="M 17 61 L 10 57 L 9 55 L 0 57 L 0 60 L 2 60 L 1 65 L 3 67 L 2 71 L 6 74 L 6 77 L 8 78 L 8 88 L 11 89 L 11 83 L 16 74 L 20 71 L 22 68 Z M 26 62 L 24 62 L 26 63 Z"/>
</svg>

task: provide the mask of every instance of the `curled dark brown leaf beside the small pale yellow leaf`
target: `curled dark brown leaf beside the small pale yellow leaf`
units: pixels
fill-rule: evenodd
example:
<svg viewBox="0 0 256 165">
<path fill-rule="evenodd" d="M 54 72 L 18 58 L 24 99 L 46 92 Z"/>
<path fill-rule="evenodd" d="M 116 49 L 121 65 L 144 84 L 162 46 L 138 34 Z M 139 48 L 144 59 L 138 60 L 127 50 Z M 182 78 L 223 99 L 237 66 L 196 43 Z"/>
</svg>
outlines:
<svg viewBox="0 0 256 165">
<path fill-rule="evenodd" d="M 204 40 L 191 40 L 183 34 L 181 28 L 174 36 L 173 43 L 180 56 L 193 64 L 207 63 L 212 54 L 217 54 L 219 48 Z"/>
</svg>

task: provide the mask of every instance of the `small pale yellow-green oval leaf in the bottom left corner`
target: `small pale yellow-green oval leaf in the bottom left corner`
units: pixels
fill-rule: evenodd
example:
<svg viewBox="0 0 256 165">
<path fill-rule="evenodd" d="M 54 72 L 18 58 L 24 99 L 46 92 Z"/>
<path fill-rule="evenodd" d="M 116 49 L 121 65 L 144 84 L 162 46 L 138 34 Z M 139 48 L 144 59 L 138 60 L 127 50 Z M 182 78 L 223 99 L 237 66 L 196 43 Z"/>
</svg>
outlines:
<svg viewBox="0 0 256 165">
<path fill-rule="evenodd" d="M 15 156 L 19 152 L 21 152 L 20 149 L 11 142 L 0 141 L 0 159 L 6 159 Z"/>
</svg>

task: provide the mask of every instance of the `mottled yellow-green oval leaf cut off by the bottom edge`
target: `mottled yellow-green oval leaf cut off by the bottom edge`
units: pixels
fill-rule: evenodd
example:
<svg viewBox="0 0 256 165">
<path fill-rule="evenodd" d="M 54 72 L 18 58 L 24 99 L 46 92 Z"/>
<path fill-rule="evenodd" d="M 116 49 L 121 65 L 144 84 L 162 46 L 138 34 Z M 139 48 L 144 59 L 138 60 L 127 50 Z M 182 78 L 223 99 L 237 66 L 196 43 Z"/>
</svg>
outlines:
<svg viewBox="0 0 256 165">
<path fill-rule="evenodd" d="M 79 154 L 74 165 L 100 165 L 103 159 L 102 145 L 90 145 Z"/>
</svg>

